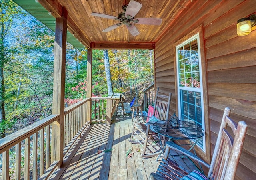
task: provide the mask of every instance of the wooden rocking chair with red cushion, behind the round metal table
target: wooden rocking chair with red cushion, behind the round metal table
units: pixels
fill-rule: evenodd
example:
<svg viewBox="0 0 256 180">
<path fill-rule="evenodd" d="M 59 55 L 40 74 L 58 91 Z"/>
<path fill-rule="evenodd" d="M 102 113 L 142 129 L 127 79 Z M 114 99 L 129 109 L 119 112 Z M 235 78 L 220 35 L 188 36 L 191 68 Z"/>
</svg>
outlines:
<svg viewBox="0 0 256 180">
<path fill-rule="evenodd" d="M 169 117 L 169 109 L 170 109 L 170 102 L 171 102 L 172 94 L 169 93 L 168 96 L 166 95 L 159 95 L 158 91 L 156 91 L 156 98 L 154 104 L 154 111 L 152 116 L 156 117 L 158 120 L 166 120 Z M 167 100 L 167 101 L 166 101 Z M 140 117 L 148 117 L 145 115 L 139 115 Z M 157 156 L 162 152 L 160 146 L 160 139 L 158 134 L 155 133 L 150 125 L 153 123 L 140 123 L 137 121 L 138 118 L 135 119 L 135 123 L 132 129 L 132 135 L 130 142 L 134 144 L 141 144 L 143 146 L 142 150 L 142 157 L 153 157 Z M 162 139 L 164 141 L 164 138 Z M 151 147 L 151 148 L 149 148 Z M 146 154 L 146 150 L 148 149 L 148 154 Z"/>
</svg>

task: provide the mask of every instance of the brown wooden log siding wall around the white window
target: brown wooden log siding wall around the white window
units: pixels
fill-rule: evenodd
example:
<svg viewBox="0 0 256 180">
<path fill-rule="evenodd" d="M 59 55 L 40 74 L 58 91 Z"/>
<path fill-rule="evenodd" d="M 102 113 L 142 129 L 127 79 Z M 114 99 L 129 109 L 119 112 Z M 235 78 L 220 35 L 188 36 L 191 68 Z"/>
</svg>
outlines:
<svg viewBox="0 0 256 180">
<path fill-rule="evenodd" d="M 225 107 L 249 127 L 236 179 L 256 177 L 256 28 L 247 36 L 236 34 L 237 20 L 251 14 L 256 14 L 255 1 L 192 1 L 155 49 L 155 84 L 160 93 L 172 93 L 171 114 L 177 107 L 174 44 L 203 25 L 211 155 Z"/>
</svg>

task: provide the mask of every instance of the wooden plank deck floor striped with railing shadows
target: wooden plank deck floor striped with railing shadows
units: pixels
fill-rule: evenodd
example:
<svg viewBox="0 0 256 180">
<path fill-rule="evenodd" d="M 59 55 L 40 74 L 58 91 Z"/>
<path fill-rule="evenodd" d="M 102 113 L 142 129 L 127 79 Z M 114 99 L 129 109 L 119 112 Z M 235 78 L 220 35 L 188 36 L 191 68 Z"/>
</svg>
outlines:
<svg viewBox="0 0 256 180">
<path fill-rule="evenodd" d="M 136 151 L 136 148 L 141 146 L 128 141 L 131 131 L 131 117 L 116 118 L 111 125 L 89 125 L 84 129 L 80 140 L 74 143 L 67 153 L 62 168 L 56 170 L 50 179 L 148 179 L 151 172 L 156 172 L 160 161 L 156 161 L 157 157 L 146 159 L 141 157 L 140 152 Z M 110 149 L 112 151 L 108 152 Z M 134 152 L 131 158 L 126 157 L 129 149 Z M 99 150 L 103 152 L 98 154 Z M 195 168 L 187 158 L 182 160 L 176 157 L 175 160 L 187 169 Z"/>
</svg>

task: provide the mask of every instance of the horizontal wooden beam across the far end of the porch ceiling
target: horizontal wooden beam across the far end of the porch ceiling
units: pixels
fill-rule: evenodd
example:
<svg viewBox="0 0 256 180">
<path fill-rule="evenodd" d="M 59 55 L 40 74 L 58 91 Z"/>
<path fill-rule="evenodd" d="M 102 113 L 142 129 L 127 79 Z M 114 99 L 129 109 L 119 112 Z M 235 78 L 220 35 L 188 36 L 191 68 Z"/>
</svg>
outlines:
<svg viewBox="0 0 256 180">
<path fill-rule="evenodd" d="M 91 42 L 92 49 L 155 49 L 155 43 L 136 42 Z"/>
</svg>

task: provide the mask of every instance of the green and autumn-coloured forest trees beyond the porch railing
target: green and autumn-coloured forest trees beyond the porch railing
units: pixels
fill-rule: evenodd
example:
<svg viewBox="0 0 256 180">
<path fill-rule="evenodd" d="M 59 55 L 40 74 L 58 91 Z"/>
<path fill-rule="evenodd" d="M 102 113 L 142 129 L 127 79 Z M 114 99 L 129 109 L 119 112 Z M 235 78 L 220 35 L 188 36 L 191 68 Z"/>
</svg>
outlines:
<svg viewBox="0 0 256 180">
<path fill-rule="evenodd" d="M 1 138 L 51 114 L 54 32 L 10 0 L 0 0 Z M 85 98 L 87 50 L 67 44 L 67 105 Z M 152 50 L 93 50 L 92 93 L 107 96 L 104 54 L 108 55 L 111 92 L 128 92 L 127 101 L 153 81 Z M 130 99 L 129 99 L 130 98 Z"/>
</svg>

